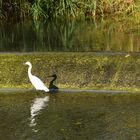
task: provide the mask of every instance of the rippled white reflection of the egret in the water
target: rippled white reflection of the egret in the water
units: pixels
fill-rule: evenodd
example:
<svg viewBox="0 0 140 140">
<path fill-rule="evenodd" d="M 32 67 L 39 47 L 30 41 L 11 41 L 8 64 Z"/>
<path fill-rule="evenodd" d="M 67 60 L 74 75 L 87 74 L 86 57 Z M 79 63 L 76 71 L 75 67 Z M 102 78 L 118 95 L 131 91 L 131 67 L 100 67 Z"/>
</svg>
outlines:
<svg viewBox="0 0 140 140">
<path fill-rule="evenodd" d="M 30 127 L 34 127 L 36 126 L 36 119 L 35 117 L 40 113 L 40 111 L 46 107 L 48 104 L 48 101 L 49 101 L 49 96 L 45 96 L 45 97 L 38 97 L 38 98 L 35 98 L 33 104 L 31 105 L 31 108 L 30 108 L 30 124 L 29 126 Z M 37 129 L 32 129 L 34 132 L 38 132 Z"/>
</svg>

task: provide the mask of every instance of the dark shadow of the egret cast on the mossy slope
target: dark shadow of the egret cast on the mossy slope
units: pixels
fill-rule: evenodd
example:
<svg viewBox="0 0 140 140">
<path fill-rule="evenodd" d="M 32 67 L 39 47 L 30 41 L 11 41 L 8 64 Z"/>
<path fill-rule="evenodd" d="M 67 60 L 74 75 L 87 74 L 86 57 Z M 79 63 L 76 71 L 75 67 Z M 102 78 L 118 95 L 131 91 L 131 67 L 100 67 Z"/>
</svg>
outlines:
<svg viewBox="0 0 140 140">
<path fill-rule="evenodd" d="M 50 93 L 58 92 L 59 88 L 56 85 L 54 85 L 54 81 L 57 79 L 57 75 L 53 74 L 53 75 L 48 76 L 48 77 L 53 77 L 53 79 L 51 80 L 51 82 L 49 84 L 49 92 Z"/>
</svg>

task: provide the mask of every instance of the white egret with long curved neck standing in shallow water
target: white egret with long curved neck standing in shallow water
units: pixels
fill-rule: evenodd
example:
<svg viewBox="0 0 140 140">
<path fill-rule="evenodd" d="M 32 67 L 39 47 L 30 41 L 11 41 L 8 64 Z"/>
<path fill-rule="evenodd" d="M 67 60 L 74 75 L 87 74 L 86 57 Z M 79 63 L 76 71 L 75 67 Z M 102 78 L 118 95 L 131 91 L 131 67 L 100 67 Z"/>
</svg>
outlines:
<svg viewBox="0 0 140 140">
<path fill-rule="evenodd" d="M 28 77 L 32 83 L 32 85 L 35 87 L 36 90 L 43 90 L 45 92 L 49 92 L 49 89 L 45 86 L 45 84 L 36 76 L 32 75 L 32 64 L 30 62 L 26 62 L 26 65 L 29 66 L 28 68 Z"/>
</svg>

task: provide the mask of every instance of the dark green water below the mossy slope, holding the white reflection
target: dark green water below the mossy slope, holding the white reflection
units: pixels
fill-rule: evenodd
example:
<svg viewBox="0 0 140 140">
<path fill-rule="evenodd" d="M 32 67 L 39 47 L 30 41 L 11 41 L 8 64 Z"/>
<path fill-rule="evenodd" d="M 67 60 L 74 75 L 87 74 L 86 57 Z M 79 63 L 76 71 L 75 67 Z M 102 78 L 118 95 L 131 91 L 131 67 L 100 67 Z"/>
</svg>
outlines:
<svg viewBox="0 0 140 140">
<path fill-rule="evenodd" d="M 0 140 L 136 140 L 139 132 L 139 94 L 0 94 Z"/>
</svg>

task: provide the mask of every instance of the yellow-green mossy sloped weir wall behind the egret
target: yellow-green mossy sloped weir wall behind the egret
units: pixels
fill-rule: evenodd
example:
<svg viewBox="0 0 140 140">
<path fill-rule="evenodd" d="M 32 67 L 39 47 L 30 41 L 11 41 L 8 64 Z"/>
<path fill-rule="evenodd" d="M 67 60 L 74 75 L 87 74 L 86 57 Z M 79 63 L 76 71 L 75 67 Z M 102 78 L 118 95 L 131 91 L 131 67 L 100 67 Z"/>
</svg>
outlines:
<svg viewBox="0 0 140 140">
<path fill-rule="evenodd" d="M 58 76 L 59 88 L 121 89 L 140 91 L 140 57 L 124 55 L 99 55 L 96 53 L 35 53 L 1 54 L 0 88 L 32 87 L 28 67 L 48 86 L 51 78 Z"/>
</svg>

